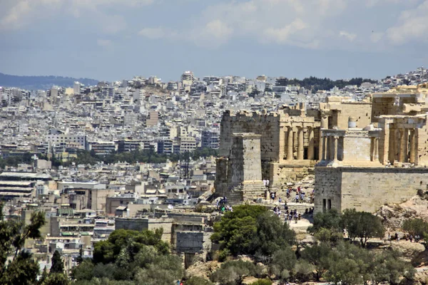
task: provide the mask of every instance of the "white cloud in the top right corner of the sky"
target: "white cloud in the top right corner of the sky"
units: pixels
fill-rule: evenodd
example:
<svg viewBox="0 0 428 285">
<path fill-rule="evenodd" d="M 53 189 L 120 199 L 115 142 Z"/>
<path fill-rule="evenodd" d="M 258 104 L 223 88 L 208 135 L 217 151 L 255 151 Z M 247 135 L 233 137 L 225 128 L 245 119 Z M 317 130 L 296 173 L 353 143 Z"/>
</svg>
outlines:
<svg viewBox="0 0 428 285">
<path fill-rule="evenodd" d="M 387 38 L 396 45 L 428 40 L 428 0 L 416 9 L 402 11 L 399 24 L 387 29 Z"/>
</svg>

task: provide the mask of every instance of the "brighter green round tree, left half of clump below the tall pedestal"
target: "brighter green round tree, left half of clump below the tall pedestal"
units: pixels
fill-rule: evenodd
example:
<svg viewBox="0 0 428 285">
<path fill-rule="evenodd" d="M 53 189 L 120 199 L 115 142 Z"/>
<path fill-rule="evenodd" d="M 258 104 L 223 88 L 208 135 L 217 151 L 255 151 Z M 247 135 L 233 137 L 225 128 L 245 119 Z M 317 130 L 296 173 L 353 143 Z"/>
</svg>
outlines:
<svg viewBox="0 0 428 285">
<path fill-rule="evenodd" d="M 259 205 L 240 205 L 233 212 L 226 212 L 220 222 L 214 224 L 213 242 L 219 243 L 222 249 L 229 249 L 231 254 L 254 254 L 253 239 L 257 233 L 257 219 L 267 212 L 266 207 Z"/>
</svg>

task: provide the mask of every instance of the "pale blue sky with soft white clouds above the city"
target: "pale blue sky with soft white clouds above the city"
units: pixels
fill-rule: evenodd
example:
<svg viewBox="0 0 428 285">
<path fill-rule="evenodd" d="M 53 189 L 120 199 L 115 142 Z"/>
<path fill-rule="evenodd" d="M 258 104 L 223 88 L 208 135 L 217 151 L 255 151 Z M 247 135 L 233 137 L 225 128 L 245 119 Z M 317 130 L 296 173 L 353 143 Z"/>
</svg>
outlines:
<svg viewBox="0 0 428 285">
<path fill-rule="evenodd" d="M 0 72 L 384 78 L 428 66 L 428 0 L 0 0 Z"/>
</svg>

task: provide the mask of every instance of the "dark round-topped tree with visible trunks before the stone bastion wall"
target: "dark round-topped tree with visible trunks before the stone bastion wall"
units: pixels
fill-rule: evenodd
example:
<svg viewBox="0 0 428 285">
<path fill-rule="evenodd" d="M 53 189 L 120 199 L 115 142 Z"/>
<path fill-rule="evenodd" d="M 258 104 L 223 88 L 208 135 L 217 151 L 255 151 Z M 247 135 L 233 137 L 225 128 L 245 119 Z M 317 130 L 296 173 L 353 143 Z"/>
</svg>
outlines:
<svg viewBox="0 0 428 285">
<path fill-rule="evenodd" d="M 347 230 L 353 241 L 360 239 L 362 247 L 373 237 L 384 237 L 384 226 L 379 217 L 369 212 L 357 212 L 355 209 L 345 209 L 342 214 L 342 227 Z"/>
</svg>

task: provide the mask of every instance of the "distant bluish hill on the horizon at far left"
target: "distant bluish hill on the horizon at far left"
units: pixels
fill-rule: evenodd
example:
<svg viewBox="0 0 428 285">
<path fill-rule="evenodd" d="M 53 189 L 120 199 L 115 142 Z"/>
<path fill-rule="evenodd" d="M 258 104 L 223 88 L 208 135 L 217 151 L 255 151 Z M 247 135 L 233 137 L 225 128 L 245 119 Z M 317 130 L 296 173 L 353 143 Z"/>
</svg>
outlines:
<svg viewBox="0 0 428 285">
<path fill-rule="evenodd" d="M 11 76 L 0 73 L 0 86 L 19 87 L 27 90 L 45 90 L 52 86 L 71 87 L 74 81 L 83 83 L 85 86 L 93 86 L 98 83 L 94 79 L 71 78 L 62 76 Z"/>
</svg>

